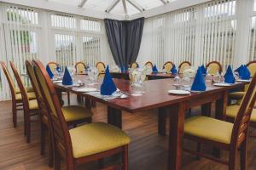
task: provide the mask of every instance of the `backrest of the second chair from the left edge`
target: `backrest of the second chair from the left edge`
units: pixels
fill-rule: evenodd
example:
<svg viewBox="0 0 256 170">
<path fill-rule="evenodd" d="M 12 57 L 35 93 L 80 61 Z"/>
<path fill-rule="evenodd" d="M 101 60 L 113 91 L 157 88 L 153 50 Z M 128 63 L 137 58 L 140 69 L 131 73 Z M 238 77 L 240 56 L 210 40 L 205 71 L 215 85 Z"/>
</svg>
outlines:
<svg viewBox="0 0 256 170">
<path fill-rule="evenodd" d="M 14 62 L 10 61 L 9 64 L 10 64 L 10 66 L 12 68 L 12 71 L 14 72 L 15 79 L 16 79 L 16 81 L 18 83 L 19 88 L 20 88 L 20 94 L 22 96 L 22 101 L 23 101 L 24 109 L 28 110 L 28 108 L 29 108 L 29 105 L 28 105 L 29 99 L 27 97 L 26 87 L 23 84 L 23 82 L 21 81 L 20 74 L 18 73 L 18 71 L 17 71 L 17 69 L 15 67 Z"/>
</svg>

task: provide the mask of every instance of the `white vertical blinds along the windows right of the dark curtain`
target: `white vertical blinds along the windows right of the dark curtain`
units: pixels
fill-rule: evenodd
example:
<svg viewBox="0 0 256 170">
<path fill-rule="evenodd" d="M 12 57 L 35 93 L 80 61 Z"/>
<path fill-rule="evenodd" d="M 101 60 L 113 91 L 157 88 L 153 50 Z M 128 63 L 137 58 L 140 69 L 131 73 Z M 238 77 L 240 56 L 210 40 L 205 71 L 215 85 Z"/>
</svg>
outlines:
<svg viewBox="0 0 256 170">
<path fill-rule="evenodd" d="M 212 1 L 145 20 L 138 60 L 159 67 L 167 60 L 232 65 L 235 41 L 236 1 Z"/>
</svg>

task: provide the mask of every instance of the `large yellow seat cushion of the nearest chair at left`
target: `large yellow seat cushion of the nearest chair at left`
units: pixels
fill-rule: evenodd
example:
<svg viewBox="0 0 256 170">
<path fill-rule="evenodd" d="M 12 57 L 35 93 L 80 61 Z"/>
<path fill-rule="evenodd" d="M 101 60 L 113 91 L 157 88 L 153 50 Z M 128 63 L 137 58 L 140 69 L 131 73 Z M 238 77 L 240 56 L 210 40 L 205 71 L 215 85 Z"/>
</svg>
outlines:
<svg viewBox="0 0 256 170">
<path fill-rule="evenodd" d="M 102 151 L 111 150 L 125 144 L 131 139 L 118 127 L 108 123 L 95 122 L 69 130 L 73 157 L 90 156 Z"/>
</svg>

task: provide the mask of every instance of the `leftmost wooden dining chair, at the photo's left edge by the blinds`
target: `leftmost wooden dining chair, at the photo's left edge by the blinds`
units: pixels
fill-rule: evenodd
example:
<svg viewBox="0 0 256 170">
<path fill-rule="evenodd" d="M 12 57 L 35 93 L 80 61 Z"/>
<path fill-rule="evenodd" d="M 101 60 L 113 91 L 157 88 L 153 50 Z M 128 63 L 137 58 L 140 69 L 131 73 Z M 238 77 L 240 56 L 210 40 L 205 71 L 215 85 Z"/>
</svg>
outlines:
<svg viewBox="0 0 256 170">
<path fill-rule="evenodd" d="M 9 89 L 12 97 L 12 113 L 13 113 L 13 123 L 14 127 L 17 127 L 17 111 L 23 111 L 23 100 L 20 94 L 20 88 L 15 88 L 15 82 L 10 76 L 10 73 L 7 69 L 7 66 L 3 61 L 0 61 L 2 65 L 4 75 L 9 83 Z M 26 90 L 32 91 L 32 88 L 26 88 Z M 36 99 L 36 96 L 33 92 L 27 94 L 29 99 Z"/>
</svg>

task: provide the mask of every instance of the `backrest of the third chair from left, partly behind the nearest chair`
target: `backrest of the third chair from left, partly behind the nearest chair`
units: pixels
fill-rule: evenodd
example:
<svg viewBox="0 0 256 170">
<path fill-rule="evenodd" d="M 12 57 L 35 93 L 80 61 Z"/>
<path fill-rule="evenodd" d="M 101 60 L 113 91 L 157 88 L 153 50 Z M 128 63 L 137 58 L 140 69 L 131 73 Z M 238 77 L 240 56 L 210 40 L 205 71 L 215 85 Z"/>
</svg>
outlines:
<svg viewBox="0 0 256 170">
<path fill-rule="evenodd" d="M 26 71 L 27 71 L 28 77 L 30 78 L 30 82 L 32 83 L 32 88 L 34 89 L 34 92 L 38 100 L 38 107 L 40 109 L 39 111 L 40 118 L 41 119 L 44 118 L 44 120 L 46 120 L 45 118 L 47 118 L 47 108 L 44 103 L 44 99 L 42 97 L 42 94 L 38 85 L 37 77 L 33 71 L 32 63 L 28 60 L 26 60 Z"/>
</svg>

